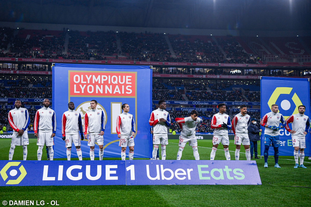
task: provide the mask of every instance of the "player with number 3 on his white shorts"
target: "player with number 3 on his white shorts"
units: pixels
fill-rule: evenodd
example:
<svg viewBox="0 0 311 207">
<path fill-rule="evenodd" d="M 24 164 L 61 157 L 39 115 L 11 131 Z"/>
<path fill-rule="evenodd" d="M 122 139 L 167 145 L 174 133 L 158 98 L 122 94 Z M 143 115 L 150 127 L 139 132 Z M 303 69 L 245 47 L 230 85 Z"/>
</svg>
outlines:
<svg viewBox="0 0 311 207">
<path fill-rule="evenodd" d="M 240 158 L 241 144 L 244 145 L 246 160 L 251 160 L 250 142 L 248 138 L 248 126 L 251 123 L 251 117 L 246 114 L 247 107 L 245 105 L 240 106 L 240 113 L 235 115 L 232 119 L 232 131 L 234 133 L 235 147 L 235 160 Z"/>
</svg>

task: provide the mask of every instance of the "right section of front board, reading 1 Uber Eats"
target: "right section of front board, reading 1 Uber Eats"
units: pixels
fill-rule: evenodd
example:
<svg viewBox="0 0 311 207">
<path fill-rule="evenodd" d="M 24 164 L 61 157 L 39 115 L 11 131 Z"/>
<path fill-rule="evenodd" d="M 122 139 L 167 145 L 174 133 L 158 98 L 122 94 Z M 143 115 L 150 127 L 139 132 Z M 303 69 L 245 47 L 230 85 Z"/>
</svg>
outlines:
<svg viewBox="0 0 311 207">
<path fill-rule="evenodd" d="M 125 160 L 127 185 L 261 185 L 256 161 Z"/>
</svg>

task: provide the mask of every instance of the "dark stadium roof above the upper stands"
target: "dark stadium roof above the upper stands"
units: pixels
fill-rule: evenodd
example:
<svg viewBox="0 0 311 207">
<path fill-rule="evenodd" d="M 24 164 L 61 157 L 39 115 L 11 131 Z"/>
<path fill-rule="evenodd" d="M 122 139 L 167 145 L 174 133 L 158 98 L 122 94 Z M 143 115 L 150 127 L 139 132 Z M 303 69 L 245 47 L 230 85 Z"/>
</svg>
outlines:
<svg viewBox="0 0 311 207">
<path fill-rule="evenodd" d="M 0 21 L 230 30 L 309 30 L 309 0 L 0 0 Z"/>
</svg>

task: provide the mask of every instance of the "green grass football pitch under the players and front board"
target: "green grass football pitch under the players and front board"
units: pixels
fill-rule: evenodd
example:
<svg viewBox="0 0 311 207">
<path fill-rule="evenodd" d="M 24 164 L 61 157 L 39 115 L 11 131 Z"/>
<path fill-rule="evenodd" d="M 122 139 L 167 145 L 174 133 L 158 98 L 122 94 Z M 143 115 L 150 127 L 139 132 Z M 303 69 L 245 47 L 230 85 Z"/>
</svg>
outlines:
<svg viewBox="0 0 311 207">
<path fill-rule="evenodd" d="M 0 160 L 8 160 L 11 139 L 0 139 Z M 175 160 L 178 140 L 169 140 L 166 159 Z M 201 160 L 209 160 L 211 140 L 198 140 Z M 258 143 L 258 146 L 259 143 Z M 44 148 L 45 149 L 45 148 Z M 225 160 L 222 145 L 216 160 Z M 27 160 L 37 160 L 35 139 L 30 139 Z M 230 155 L 235 146 L 230 141 Z M 260 152 L 260 148 L 258 148 Z M 43 150 L 42 160 L 46 159 Z M 246 160 L 241 147 L 240 160 Z M 263 157 L 262 157 L 263 158 Z M 75 160 L 77 158 L 73 158 Z M 89 158 L 88 158 L 89 159 Z M 88 160 L 83 158 L 83 160 Z M 98 158 L 97 158 L 98 159 Z M 111 158 L 104 158 L 111 160 Z M 115 158 L 120 159 L 120 158 Z M 13 160 L 22 160 L 22 147 L 17 146 Z M 58 159 L 55 159 L 58 160 Z M 66 160 L 66 159 L 59 159 Z M 96 158 L 95 158 L 96 160 Z M 182 160 L 194 160 L 192 148 L 183 150 Z M 269 168 L 264 160 L 256 160 L 262 185 L 168 185 L 168 186 L 26 186 L 0 187 L 2 200 L 57 200 L 59 206 L 311 206 L 311 162 L 306 157 L 307 169 L 294 169 L 291 156 L 280 156 L 280 169 L 274 168 L 274 158 L 269 156 Z M 285 187 L 303 186 L 303 187 Z M 8 206 L 8 205 L 7 205 Z"/>
</svg>

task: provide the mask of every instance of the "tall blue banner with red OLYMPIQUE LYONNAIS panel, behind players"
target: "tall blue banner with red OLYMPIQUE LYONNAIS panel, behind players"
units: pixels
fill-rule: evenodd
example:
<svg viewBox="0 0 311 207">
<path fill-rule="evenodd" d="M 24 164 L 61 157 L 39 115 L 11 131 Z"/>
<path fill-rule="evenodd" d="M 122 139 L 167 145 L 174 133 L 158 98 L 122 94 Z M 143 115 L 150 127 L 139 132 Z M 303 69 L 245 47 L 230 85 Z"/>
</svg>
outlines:
<svg viewBox="0 0 311 207">
<path fill-rule="evenodd" d="M 134 136 L 134 157 L 149 158 L 152 151 L 149 118 L 151 114 L 151 76 L 149 66 L 124 65 L 84 65 L 55 63 L 53 67 L 52 109 L 56 113 L 57 131 L 54 138 L 54 157 L 65 158 L 66 146 L 62 140 L 62 116 L 72 101 L 75 110 L 84 115 L 91 110 L 91 100 L 98 102 L 97 109 L 104 111 L 106 118 L 104 132 L 104 157 L 120 157 L 121 147 L 116 132 L 117 116 L 122 113 L 121 105 L 130 106 L 134 116 L 136 134 Z M 81 141 L 83 157 L 90 156 L 86 139 Z M 128 151 L 128 148 L 127 148 Z M 99 147 L 95 145 L 95 157 Z M 127 153 L 128 155 L 128 153 Z M 77 157 L 72 147 L 72 157 Z"/>
</svg>

